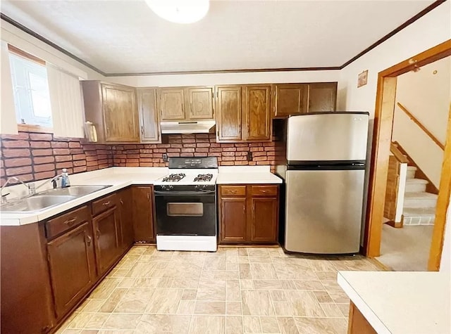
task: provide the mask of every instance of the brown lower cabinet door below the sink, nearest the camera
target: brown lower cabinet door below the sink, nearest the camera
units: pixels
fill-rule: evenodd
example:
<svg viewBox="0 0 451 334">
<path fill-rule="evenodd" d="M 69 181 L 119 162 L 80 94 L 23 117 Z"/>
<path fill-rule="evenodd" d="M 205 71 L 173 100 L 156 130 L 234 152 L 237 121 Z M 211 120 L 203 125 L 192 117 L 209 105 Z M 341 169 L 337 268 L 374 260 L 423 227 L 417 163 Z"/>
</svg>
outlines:
<svg viewBox="0 0 451 334">
<path fill-rule="evenodd" d="M 94 284 L 96 277 L 89 222 L 47 244 L 56 317 L 60 318 Z"/>
</svg>

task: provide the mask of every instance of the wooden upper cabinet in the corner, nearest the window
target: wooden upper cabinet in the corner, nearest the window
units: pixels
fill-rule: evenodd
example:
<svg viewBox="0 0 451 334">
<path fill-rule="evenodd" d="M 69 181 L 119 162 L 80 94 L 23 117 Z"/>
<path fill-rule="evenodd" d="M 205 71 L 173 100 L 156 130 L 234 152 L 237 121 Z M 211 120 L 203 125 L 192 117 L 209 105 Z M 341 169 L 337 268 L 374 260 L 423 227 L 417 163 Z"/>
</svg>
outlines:
<svg viewBox="0 0 451 334">
<path fill-rule="evenodd" d="M 99 143 L 138 142 L 140 124 L 135 89 L 99 81 L 82 82 L 85 117 Z"/>
</svg>

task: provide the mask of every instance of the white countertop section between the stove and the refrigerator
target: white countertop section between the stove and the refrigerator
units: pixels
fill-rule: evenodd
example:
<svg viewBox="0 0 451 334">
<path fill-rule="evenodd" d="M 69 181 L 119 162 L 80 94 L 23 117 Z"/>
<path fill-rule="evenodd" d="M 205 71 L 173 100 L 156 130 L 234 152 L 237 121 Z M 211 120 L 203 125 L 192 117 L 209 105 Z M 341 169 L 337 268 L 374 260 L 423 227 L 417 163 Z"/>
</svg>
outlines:
<svg viewBox="0 0 451 334">
<path fill-rule="evenodd" d="M 220 166 L 216 184 L 281 184 L 269 166 Z"/>
</svg>

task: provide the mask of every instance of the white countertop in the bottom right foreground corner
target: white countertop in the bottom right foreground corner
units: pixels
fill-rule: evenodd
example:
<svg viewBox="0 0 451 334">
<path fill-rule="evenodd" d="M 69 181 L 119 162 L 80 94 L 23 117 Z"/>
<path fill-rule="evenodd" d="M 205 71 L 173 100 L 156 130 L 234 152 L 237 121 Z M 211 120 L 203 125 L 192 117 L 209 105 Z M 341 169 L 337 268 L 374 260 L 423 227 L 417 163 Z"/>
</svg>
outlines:
<svg viewBox="0 0 451 334">
<path fill-rule="evenodd" d="M 451 333 L 450 273 L 339 271 L 338 284 L 377 333 Z"/>
</svg>

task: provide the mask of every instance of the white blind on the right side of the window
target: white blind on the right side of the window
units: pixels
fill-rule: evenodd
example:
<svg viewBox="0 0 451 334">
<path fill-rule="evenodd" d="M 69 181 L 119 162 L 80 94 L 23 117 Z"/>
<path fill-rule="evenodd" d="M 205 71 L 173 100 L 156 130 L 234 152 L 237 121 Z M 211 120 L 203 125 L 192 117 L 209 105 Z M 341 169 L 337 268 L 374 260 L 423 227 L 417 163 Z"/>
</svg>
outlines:
<svg viewBox="0 0 451 334">
<path fill-rule="evenodd" d="M 80 80 L 51 64 L 47 65 L 47 77 L 54 135 L 82 138 L 85 116 L 82 108 Z"/>
</svg>

